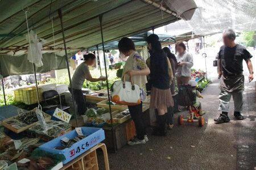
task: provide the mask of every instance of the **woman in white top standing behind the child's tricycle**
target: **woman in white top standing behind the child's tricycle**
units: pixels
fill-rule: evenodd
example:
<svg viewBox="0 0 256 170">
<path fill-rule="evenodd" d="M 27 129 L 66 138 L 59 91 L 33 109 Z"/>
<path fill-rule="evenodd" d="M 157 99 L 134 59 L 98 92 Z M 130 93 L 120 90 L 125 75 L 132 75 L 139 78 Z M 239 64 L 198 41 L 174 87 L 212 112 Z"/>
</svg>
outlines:
<svg viewBox="0 0 256 170">
<path fill-rule="evenodd" d="M 191 80 L 191 67 L 193 66 L 193 56 L 186 51 L 186 46 L 183 42 L 178 42 L 175 46 L 177 55 L 177 86 L 188 84 Z"/>
</svg>

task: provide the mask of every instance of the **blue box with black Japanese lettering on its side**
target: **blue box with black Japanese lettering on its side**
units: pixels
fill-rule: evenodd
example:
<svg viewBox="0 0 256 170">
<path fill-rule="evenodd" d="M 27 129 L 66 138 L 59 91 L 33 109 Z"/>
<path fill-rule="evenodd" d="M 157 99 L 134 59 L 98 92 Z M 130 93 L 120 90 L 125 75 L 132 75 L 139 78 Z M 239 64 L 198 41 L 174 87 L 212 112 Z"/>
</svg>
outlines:
<svg viewBox="0 0 256 170">
<path fill-rule="evenodd" d="M 64 148 L 64 150 L 56 150 L 55 147 L 61 146 L 61 139 L 67 137 L 69 139 L 77 137 L 76 130 L 72 130 L 69 133 L 66 133 L 60 137 L 52 139 L 47 143 L 39 146 L 40 149 L 50 152 L 52 154 L 63 154 L 65 156 L 65 160 L 63 164 L 70 162 L 71 160 L 75 159 L 77 156 L 81 155 L 85 151 L 89 150 L 90 148 L 96 146 L 101 141 L 105 139 L 104 130 L 101 128 L 87 128 L 81 127 L 82 134 L 86 135 L 84 139 L 74 143 L 69 148 Z"/>
</svg>

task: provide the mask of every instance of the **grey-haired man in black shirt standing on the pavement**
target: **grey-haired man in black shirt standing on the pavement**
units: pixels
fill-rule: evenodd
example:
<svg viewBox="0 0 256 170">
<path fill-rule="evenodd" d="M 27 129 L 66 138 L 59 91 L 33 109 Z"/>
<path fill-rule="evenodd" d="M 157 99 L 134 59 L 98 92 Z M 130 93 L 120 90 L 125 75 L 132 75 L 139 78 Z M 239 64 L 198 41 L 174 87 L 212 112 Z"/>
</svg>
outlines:
<svg viewBox="0 0 256 170">
<path fill-rule="evenodd" d="M 253 80 L 253 65 L 250 58 L 253 57 L 242 45 L 236 44 L 236 33 L 232 29 L 227 29 L 223 33 L 224 45 L 221 46 L 218 53 L 218 65 L 220 70 L 218 73 L 221 76 L 219 96 L 220 107 L 219 111 L 222 113 L 220 117 L 214 119 L 217 123 L 229 122 L 229 101 L 231 96 L 234 100 L 234 117 L 237 120 L 243 120 L 241 114 L 243 106 L 243 89 L 244 89 L 244 76 L 243 76 L 243 60 L 246 61 L 249 69 L 249 82 Z"/>
</svg>

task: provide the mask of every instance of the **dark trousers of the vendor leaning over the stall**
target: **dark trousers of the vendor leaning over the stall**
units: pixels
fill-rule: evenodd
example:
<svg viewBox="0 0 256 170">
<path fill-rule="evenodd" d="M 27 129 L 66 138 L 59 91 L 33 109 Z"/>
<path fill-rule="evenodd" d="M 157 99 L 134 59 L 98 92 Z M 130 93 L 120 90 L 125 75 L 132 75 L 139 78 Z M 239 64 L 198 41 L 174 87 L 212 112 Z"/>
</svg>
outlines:
<svg viewBox="0 0 256 170">
<path fill-rule="evenodd" d="M 68 90 L 72 94 L 71 88 L 68 88 Z M 84 94 L 82 94 L 82 90 L 77 90 L 77 89 L 73 89 L 73 93 L 74 94 L 72 94 L 72 95 L 74 96 L 74 99 L 75 99 L 76 104 L 77 104 L 77 113 L 79 115 L 82 115 L 87 110 Z"/>
</svg>

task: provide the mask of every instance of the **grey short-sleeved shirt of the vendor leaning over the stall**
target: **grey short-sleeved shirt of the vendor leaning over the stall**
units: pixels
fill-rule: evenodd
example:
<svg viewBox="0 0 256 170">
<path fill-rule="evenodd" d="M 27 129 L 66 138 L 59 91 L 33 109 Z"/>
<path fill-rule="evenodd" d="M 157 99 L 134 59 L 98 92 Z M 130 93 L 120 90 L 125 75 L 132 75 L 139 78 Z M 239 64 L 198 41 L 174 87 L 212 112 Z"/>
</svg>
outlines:
<svg viewBox="0 0 256 170">
<path fill-rule="evenodd" d="M 87 78 L 86 74 L 90 73 L 88 65 L 85 62 L 81 63 L 77 68 L 72 77 L 72 88 L 81 90 L 84 80 Z M 70 87 L 70 84 L 69 84 Z"/>
</svg>

